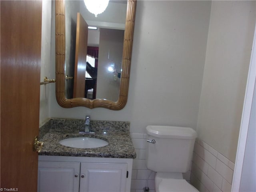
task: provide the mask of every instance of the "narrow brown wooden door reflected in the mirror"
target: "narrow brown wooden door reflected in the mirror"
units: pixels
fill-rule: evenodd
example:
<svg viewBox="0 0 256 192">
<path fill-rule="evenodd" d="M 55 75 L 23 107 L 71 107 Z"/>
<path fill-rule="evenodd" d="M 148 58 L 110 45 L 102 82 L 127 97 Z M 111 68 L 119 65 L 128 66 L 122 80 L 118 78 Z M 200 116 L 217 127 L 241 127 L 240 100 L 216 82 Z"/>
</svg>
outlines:
<svg viewBox="0 0 256 192">
<path fill-rule="evenodd" d="M 77 13 L 76 22 L 76 58 L 74 72 L 73 98 L 85 97 L 85 72 L 88 42 L 88 24 L 80 13 Z"/>
</svg>

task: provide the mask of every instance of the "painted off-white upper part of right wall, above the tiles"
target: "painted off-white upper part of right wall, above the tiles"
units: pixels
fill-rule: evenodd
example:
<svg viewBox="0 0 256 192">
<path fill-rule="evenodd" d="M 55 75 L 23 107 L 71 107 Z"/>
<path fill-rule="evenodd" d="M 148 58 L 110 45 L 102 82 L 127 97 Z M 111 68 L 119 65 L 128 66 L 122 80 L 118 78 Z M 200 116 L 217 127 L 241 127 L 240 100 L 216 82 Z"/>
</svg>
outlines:
<svg viewBox="0 0 256 192">
<path fill-rule="evenodd" d="M 212 1 L 198 137 L 235 162 L 255 1 Z"/>
</svg>

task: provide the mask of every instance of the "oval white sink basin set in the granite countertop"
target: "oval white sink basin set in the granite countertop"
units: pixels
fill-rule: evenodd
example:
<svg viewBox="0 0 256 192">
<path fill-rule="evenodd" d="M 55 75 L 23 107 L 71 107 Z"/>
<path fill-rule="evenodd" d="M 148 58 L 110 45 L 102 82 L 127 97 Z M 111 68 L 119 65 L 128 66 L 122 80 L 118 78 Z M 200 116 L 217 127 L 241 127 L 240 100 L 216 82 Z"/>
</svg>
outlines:
<svg viewBox="0 0 256 192">
<path fill-rule="evenodd" d="M 63 139 L 60 144 L 74 148 L 97 148 L 108 145 L 108 142 L 98 138 L 74 137 Z"/>
</svg>

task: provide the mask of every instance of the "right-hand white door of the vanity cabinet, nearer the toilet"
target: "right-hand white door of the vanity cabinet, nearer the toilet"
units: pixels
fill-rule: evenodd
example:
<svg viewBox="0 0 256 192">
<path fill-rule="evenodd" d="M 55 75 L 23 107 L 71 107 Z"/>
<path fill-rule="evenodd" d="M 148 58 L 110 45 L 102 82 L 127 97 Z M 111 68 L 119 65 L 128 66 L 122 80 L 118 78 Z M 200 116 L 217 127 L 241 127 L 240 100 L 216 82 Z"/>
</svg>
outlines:
<svg viewBox="0 0 256 192">
<path fill-rule="evenodd" d="M 124 192 L 127 164 L 81 163 L 80 192 Z"/>
</svg>

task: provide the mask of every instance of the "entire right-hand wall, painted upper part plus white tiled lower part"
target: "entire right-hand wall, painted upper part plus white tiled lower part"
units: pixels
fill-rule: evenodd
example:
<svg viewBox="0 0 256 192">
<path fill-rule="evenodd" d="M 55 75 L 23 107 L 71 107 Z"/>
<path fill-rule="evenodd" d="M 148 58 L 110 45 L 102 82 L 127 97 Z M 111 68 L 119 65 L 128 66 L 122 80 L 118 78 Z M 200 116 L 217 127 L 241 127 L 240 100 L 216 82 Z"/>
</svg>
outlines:
<svg viewBox="0 0 256 192">
<path fill-rule="evenodd" d="M 190 178 L 200 192 L 232 189 L 254 27 L 255 1 L 212 1 Z"/>
</svg>

